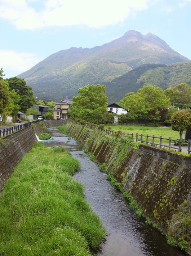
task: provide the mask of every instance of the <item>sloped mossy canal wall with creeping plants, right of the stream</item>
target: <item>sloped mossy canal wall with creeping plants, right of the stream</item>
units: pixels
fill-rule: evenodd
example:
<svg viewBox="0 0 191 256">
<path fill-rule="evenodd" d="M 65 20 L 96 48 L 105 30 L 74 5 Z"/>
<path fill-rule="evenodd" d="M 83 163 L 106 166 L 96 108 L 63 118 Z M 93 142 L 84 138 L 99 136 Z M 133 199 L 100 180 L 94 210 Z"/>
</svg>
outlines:
<svg viewBox="0 0 191 256">
<path fill-rule="evenodd" d="M 106 135 L 75 123 L 67 124 L 123 191 L 144 211 L 155 227 L 191 255 L 191 157 Z"/>
</svg>

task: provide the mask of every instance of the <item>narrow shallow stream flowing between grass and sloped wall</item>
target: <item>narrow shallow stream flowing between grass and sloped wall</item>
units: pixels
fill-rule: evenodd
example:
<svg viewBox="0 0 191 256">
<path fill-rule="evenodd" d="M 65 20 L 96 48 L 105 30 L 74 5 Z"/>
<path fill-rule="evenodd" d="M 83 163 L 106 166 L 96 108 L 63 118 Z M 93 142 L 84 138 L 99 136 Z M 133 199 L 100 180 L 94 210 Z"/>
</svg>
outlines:
<svg viewBox="0 0 191 256">
<path fill-rule="evenodd" d="M 49 128 L 52 139 L 44 141 L 46 146 L 65 146 L 66 151 L 81 163 L 81 171 L 73 177 L 83 183 L 86 200 L 102 219 L 108 230 L 106 243 L 98 256 L 183 256 L 181 250 L 166 243 L 166 239 L 157 230 L 145 223 L 129 208 L 123 195 L 107 181 L 106 174 L 99 171 L 97 164 L 81 150 L 72 138 L 68 140 L 57 129 Z"/>
</svg>

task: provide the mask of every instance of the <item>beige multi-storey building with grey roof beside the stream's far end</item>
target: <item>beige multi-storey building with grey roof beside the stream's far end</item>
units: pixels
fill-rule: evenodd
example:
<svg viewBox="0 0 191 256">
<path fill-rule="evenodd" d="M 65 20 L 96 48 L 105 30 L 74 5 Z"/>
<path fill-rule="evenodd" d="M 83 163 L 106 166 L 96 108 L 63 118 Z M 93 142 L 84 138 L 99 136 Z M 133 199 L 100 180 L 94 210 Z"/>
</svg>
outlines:
<svg viewBox="0 0 191 256">
<path fill-rule="evenodd" d="M 71 104 L 72 104 L 72 100 L 61 100 L 55 103 L 54 119 L 57 119 L 57 118 L 68 119 L 67 111 Z"/>
</svg>

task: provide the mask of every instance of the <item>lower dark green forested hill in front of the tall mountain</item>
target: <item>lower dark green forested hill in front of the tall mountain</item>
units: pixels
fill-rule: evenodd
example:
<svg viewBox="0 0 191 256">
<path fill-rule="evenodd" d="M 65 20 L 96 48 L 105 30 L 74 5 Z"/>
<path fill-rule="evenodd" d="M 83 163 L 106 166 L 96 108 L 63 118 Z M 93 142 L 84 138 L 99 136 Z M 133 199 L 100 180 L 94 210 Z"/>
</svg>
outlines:
<svg viewBox="0 0 191 256">
<path fill-rule="evenodd" d="M 119 102 L 128 92 L 137 92 L 144 85 L 155 85 L 165 90 L 181 83 L 191 86 L 191 62 L 144 64 L 106 83 L 106 95 L 110 104 Z"/>
</svg>

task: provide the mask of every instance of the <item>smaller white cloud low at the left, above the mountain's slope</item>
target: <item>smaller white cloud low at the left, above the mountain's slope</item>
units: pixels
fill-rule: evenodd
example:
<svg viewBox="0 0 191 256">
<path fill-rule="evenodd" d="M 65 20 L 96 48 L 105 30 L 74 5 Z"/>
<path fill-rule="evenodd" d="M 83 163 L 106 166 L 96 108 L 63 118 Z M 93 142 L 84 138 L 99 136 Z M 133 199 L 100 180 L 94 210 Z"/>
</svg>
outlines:
<svg viewBox="0 0 191 256">
<path fill-rule="evenodd" d="M 40 61 L 41 60 L 32 53 L 18 53 L 13 50 L 0 50 L 0 63 L 3 70 L 6 71 L 6 69 L 8 69 L 15 71 L 17 72 L 17 75 L 29 70 Z"/>
</svg>

